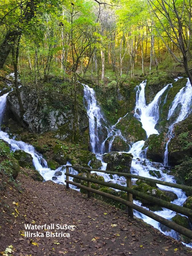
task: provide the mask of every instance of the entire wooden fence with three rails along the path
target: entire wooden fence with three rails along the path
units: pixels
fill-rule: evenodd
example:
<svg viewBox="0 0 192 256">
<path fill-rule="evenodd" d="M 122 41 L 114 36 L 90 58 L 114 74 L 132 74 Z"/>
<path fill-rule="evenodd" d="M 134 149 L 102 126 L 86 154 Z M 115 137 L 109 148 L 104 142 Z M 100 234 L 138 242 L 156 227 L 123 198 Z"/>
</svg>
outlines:
<svg viewBox="0 0 192 256">
<path fill-rule="evenodd" d="M 69 173 L 69 168 L 70 167 L 75 168 L 75 169 L 87 170 L 87 177 L 82 177 L 82 176 L 79 176 L 79 175 L 70 174 Z M 91 172 L 92 171 L 94 171 L 94 172 L 103 172 L 103 173 L 112 174 L 112 175 L 116 174 L 118 176 L 124 176 L 127 179 L 127 187 L 121 186 L 121 185 L 115 184 L 115 183 L 108 183 L 108 182 L 105 182 L 105 181 L 100 181 L 98 179 L 92 179 L 91 178 Z M 69 189 L 69 184 L 71 184 L 71 185 L 74 185 L 76 187 L 85 189 L 88 192 L 87 193 L 88 198 L 91 197 L 92 193 L 110 198 L 114 201 L 117 201 L 119 203 L 122 203 L 122 204 L 126 205 L 128 207 L 128 214 L 129 214 L 130 217 L 133 217 L 133 209 L 135 209 L 135 210 L 143 213 L 144 215 L 158 221 L 159 223 L 175 230 L 176 232 L 179 232 L 180 234 L 182 234 L 184 236 L 187 236 L 188 238 L 192 239 L 192 231 L 191 230 L 189 230 L 187 228 L 184 228 L 183 226 L 180 226 L 180 225 L 178 225 L 178 224 L 176 224 L 176 223 L 174 223 L 170 220 L 167 220 L 167 219 L 155 214 L 154 212 L 146 210 L 141 206 L 135 205 L 133 203 L 133 195 L 135 195 L 137 197 L 141 197 L 142 199 L 145 199 L 145 200 L 149 201 L 150 203 L 154 203 L 156 205 L 159 205 L 159 206 L 162 206 L 164 208 L 173 210 L 175 212 L 181 213 L 181 214 L 183 214 L 185 216 L 188 216 L 188 217 L 191 217 L 191 218 L 192 218 L 192 210 L 188 209 L 188 208 L 185 208 L 185 207 L 182 207 L 182 206 L 179 206 L 179 205 L 175 205 L 173 203 L 169 203 L 167 201 L 164 201 L 162 199 L 158 199 L 158 198 L 150 196 L 150 195 L 146 195 L 142 192 L 139 192 L 135 189 L 132 189 L 131 178 L 137 178 L 137 179 L 141 179 L 141 180 L 144 180 L 144 181 L 157 183 L 157 184 L 160 184 L 160 185 L 165 185 L 165 186 L 168 186 L 168 187 L 175 187 L 175 188 L 182 189 L 182 190 L 188 191 L 188 192 L 192 192 L 192 187 L 185 186 L 185 185 L 180 185 L 180 184 L 177 184 L 177 183 L 170 183 L 170 182 L 166 182 L 166 181 L 161 181 L 161 180 L 158 180 L 158 179 L 146 178 L 146 177 L 138 176 L 138 175 L 135 175 L 135 174 L 122 173 L 122 172 L 111 172 L 111 171 L 91 169 L 91 168 L 85 168 L 85 167 L 79 167 L 79 166 L 69 166 L 69 165 L 66 166 L 65 175 L 66 175 L 65 182 L 66 182 L 67 189 Z M 69 177 L 73 177 L 73 178 L 77 178 L 77 179 L 80 179 L 80 180 L 87 181 L 87 187 L 84 186 L 84 185 L 81 185 L 79 183 L 69 181 Z M 92 189 L 91 188 L 91 183 L 96 183 L 98 185 L 103 185 L 103 186 L 106 186 L 106 187 L 111 187 L 111 188 L 114 188 L 114 189 L 125 191 L 125 192 L 127 192 L 127 200 L 122 199 L 121 197 L 111 195 L 109 193 L 105 193 L 103 191 Z"/>
</svg>

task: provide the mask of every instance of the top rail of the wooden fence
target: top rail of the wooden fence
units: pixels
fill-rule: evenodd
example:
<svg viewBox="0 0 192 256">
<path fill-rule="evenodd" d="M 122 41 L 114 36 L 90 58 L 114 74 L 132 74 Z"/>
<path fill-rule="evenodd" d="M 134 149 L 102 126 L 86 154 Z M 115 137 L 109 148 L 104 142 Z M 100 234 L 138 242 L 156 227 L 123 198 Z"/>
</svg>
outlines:
<svg viewBox="0 0 192 256">
<path fill-rule="evenodd" d="M 147 177 L 143 177 L 143 176 L 139 176 L 139 175 L 135 175 L 135 174 L 130 174 L 130 173 L 111 172 L 111 171 L 98 170 L 98 169 L 92 169 L 92 168 L 86 168 L 86 167 L 80 167 L 80 166 L 71 166 L 71 165 L 66 165 L 66 167 L 72 167 L 72 168 L 76 168 L 76 169 L 80 169 L 80 170 L 90 170 L 90 171 L 94 171 L 94 172 L 103 172 L 103 173 L 112 174 L 112 175 L 116 174 L 118 176 L 131 177 L 131 178 L 141 179 L 144 181 L 155 182 L 160 185 L 164 185 L 164 186 L 168 186 L 168 187 L 175 187 L 178 189 L 182 189 L 183 191 L 192 192 L 192 187 L 189 187 L 189 186 L 185 186 L 185 185 L 181 185 L 181 184 L 177 184 L 177 183 L 171 183 L 171 182 L 167 182 L 167 181 L 162 181 L 162 180 L 158 180 L 158 179 L 151 179 L 151 178 L 147 178 Z"/>
</svg>

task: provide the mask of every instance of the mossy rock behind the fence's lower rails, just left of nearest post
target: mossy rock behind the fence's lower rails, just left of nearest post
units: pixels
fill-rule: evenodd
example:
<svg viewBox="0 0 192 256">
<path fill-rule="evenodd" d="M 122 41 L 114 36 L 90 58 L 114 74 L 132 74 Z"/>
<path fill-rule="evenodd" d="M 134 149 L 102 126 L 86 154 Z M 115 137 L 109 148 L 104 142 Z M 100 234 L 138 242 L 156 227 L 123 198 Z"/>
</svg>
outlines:
<svg viewBox="0 0 192 256">
<path fill-rule="evenodd" d="M 121 197 L 121 198 L 127 200 L 127 193 L 123 192 L 123 191 L 115 191 L 114 189 L 109 188 L 109 187 L 103 187 L 103 188 L 99 189 L 99 191 L 114 195 L 116 197 Z M 127 206 L 125 206 L 125 205 L 123 205 L 123 204 L 121 204 L 117 201 L 114 201 L 113 199 L 103 197 L 103 196 L 98 195 L 98 194 L 94 194 L 93 196 L 94 196 L 94 198 L 99 199 L 99 200 L 101 200 L 105 203 L 108 203 L 110 205 L 113 205 L 116 208 L 120 208 L 122 210 L 125 210 L 127 208 Z"/>
</svg>

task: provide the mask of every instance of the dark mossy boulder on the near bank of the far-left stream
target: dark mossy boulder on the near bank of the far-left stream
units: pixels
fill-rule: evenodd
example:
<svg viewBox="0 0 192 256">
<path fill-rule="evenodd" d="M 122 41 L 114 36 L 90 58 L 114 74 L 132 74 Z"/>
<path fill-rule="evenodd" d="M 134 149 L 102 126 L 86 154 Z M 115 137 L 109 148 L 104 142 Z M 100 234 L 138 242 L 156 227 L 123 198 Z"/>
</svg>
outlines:
<svg viewBox="0 0 192 256">
<path fill-rule="evenodd" d="M 18 163 L 21 167 L 32 167 L 33 158 L 29 153 L 26 153 L 24 150 L 15 150 L 13 156 L 18 160 Z"/>
</svg>

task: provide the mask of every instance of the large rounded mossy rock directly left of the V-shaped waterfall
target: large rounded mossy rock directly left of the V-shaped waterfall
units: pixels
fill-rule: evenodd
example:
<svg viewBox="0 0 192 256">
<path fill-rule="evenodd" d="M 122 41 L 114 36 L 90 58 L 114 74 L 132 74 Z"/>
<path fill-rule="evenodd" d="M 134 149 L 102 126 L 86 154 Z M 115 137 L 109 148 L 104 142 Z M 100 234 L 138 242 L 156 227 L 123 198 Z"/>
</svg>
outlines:
<svg viewBox="0 0 192 256">
<path fill-rule="evenodd" d="M 142 128 L 142 123 L 133 116 L 133 113 L 129 113 L 126 117 L 122 118 L 116 125 L 122 135 L 129 142 L 136 142 L 146 140 L 146 132 Z"/>
</svg>

